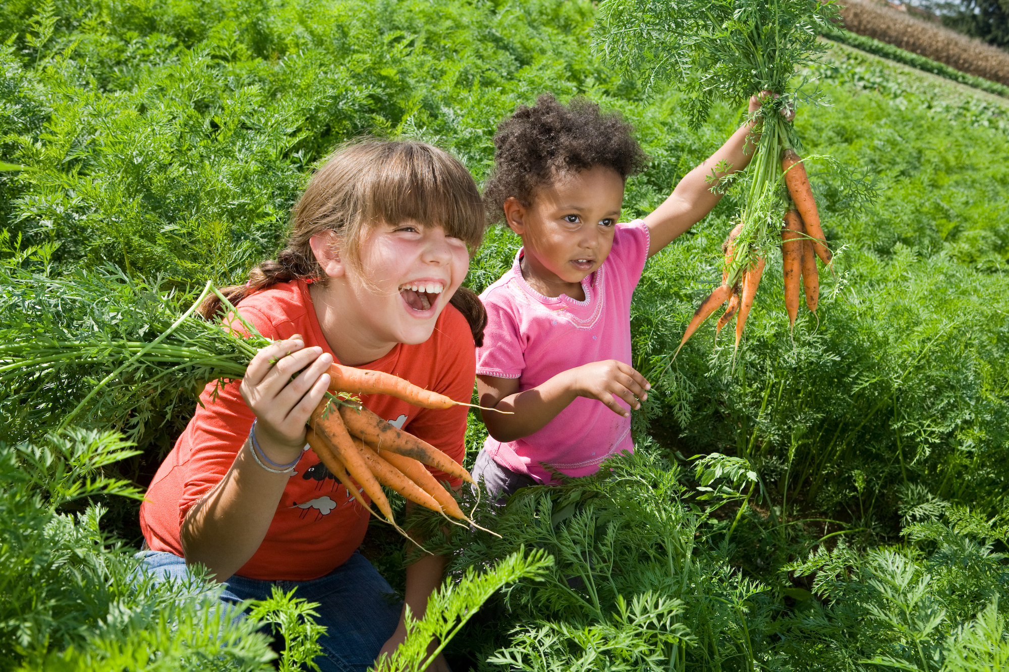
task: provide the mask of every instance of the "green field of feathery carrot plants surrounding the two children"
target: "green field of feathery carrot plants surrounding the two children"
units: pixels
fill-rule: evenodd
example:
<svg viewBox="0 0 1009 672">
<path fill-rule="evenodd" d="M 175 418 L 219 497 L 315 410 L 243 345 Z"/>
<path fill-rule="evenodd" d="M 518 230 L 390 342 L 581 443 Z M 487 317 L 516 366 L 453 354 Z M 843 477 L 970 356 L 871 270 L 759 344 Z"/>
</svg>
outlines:
<svg viewBox="0 0 1009 672">
<path fill-rule="evenodd" d="M 583 95 L 622 112 L 651 159 L 623 220 L 656 208 L 746 105 L 715 99 L 699 118 L 682 88 L 603 58 L 595 11 L 0 6 L 0 669 L 311 659 L 297 593 L 232 622 L 206 583 L 133 574 L 140 497 L 203 369 L 122 369 L 103 406 L 88 395 L 208 282 L 242 284 L 273 254 L 313 167 L 354 137 L 435 143 L 479 184 L 517 105 Z M 817 43 L 793 79 L 833 252 L 815 314 L 790 327 L 771 249 L 739 348 L 709 320 L 672 357 L 721 276 L 746 206 L 730 191 L 635 294 L 632 364 L 654 390 L 635 455 L 503 509 L 464 489 L 487 531 L 445 536 L 412 514 L 427 548 L 452 555 L 453 587 L 387 669 L 418 669 L 434 636 L 454 670 L 1009 669 L 1009 98 Z M 488 229 L 466 285 L 494 282 L 518 244 Z M 211 331 L 190 336 L 214 366 L 237 361 Z M 84 338 L 61 382 L 39 384 Z M 388 500 L 405 525 L 403 498 Z M 372 522 L 361 550 L 403 589 L 416 549 Z"/>
</svg>

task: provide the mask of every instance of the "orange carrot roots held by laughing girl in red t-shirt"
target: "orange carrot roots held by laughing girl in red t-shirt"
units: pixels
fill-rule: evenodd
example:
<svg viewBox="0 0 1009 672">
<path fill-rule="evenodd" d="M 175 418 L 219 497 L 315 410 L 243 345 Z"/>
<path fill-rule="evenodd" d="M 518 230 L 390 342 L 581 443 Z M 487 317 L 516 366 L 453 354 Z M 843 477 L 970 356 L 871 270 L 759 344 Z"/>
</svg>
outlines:
<svg viewBox="0 0 1009 672">
<path fill-rule="evenodd" d="M 340 364 L 333 364 L 329 373 L 330 393 L 389 395 L 426 409 L 468 406 L 390 373 Z M 393 510 L 381 489 L 381 485 L 385 485 L 422 507 L 458 520 L 469 520 L 455 497 L 424 465 L 470 483 L 472 477 L 458 462 L 431 444 L 362 406 L 332 396 L 319 404 L 309 425 L 309 445 L 326 468 L 368 511 L 371 508 L 361 491 L 374 502 L 385 520 L 395 525 Z"/>
</svg>

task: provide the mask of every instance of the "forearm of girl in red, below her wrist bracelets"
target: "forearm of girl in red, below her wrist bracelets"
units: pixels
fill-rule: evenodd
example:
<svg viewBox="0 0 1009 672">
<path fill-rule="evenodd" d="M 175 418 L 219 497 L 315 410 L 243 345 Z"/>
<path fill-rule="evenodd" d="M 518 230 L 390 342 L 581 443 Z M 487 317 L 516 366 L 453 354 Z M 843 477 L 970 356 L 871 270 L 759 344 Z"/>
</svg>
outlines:
<svg viewBox="0 0 1009 672">
<path fill-rule="evenodd" d="M 187 564 L 202 563 L 222 582 L 244 565 L 269 529 L 290 473 L 270 473 L 248 440 L 217 486 L 190 510 L 181 537 Z"/>
</svg>

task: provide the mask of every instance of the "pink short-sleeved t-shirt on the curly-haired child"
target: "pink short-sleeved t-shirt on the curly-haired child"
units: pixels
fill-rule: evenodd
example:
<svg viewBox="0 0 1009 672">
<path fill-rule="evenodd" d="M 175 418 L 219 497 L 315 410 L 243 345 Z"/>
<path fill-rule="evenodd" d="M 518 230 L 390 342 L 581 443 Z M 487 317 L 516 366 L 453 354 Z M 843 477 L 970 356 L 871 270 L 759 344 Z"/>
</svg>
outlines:
<svg viewBox="0 0 1009 672">
<path fill-rule="evenodd" d="M 645 268 L 648 245 L 642 220 L 618 224 L 609 256 L 581 283 L 585 301 L 563 294 L 544 297 L 533 290 L 519 267 L 520 249 L 512 269 L 480 295 L 487 326 L 483 346 L 476 350 L 476 373 L 519 378 L 522 391 L 589 362 L 630 364 L 631 296 Z M 506 443 L 487 437 L 483 446 L 501 466 L 541 482 L 551 480 L 541 463 L 584 476 L 598 471 L 609 455 L 634 450 L 631 420 L 584 397 L 535 434 Z"/>
</svg>

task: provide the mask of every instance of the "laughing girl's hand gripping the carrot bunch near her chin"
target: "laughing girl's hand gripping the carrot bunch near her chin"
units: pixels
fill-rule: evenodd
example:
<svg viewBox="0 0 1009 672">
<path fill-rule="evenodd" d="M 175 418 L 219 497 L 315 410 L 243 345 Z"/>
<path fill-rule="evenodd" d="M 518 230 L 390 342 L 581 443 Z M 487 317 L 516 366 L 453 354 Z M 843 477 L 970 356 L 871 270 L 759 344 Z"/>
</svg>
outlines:
<svg viewBox="0 0 1009 672">
<path fill-rule="evenodd" d="M 255 413 L 256 439 L 273 461 L 287 464 L 301 455 L 305 424 L 329 386 L 326 371 L 332 363 L 333 355 L 320 347 L 306 348 L 297 335 L 252 358 L 240 390 Z"/>
</svg>

